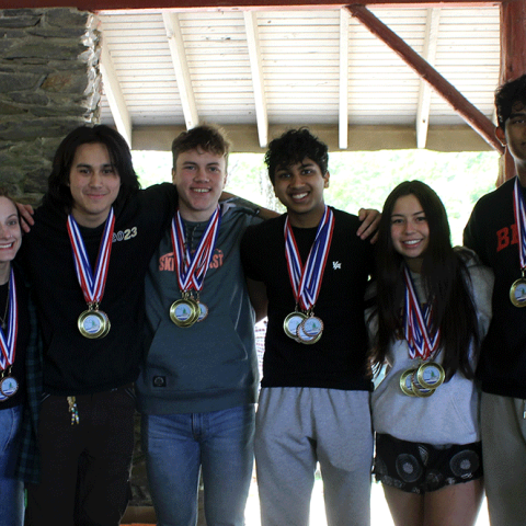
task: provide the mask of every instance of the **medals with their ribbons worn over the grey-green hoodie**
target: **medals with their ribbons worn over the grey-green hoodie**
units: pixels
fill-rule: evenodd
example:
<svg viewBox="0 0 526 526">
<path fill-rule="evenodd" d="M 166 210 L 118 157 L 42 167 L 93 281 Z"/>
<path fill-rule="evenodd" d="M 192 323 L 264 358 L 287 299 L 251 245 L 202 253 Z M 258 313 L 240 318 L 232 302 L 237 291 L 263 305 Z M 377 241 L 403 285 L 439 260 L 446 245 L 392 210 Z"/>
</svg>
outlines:
<svg viewBox="0 0 526 526">
<path fill-rule="evenodd" d="M 215 209 L 205 232 L 203 233 L 197 249 L 192 254 L 188 247 L 185 247 L 184 222 L 178 211 L 172 219 L 172 245 L 174 271 L 178 276 L 179 288 L 182 298 L 175 300 L 170 307 L 170 319 L 178 327 L 192 327 L 208 317 L 208 307 L 198 299 L 194 299 L 193 291 L 197 298 L 203 289 L 206 272 L 210 266 L 214 249 L 219 233 L 221 211 L 219 206 Z"/>
</svg>

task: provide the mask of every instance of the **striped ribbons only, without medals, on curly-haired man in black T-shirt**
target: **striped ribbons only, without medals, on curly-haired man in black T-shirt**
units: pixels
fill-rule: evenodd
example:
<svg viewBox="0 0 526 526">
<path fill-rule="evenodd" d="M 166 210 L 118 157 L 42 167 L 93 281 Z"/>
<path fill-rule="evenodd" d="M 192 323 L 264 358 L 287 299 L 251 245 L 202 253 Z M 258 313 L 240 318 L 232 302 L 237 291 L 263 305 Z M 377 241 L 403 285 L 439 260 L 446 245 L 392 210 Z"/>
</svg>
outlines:
<svg viewBox="0 0 526 526">
<path fill-rule="evenodd" d="M 318 300 L 333 230 L 334 214 L 325 205 L 323 217 L 318 225 L 315 242 L 310 248 L 304 266 L 288 217 L 285 219 L 285 259 L 287 260 L 288 276 L 296 304 L 306 312 Z"/>
</svg>

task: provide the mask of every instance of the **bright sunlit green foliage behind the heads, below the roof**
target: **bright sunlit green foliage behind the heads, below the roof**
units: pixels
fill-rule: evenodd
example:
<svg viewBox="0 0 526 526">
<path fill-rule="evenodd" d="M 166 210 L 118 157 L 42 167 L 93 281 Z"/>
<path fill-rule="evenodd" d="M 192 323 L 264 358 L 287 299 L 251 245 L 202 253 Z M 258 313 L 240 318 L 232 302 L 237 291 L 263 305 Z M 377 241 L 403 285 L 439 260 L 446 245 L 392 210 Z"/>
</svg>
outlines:
<svg viewBox="0 0 526 526">
<path fill-rule="evenodd" d="M 170 181 L 170 152 L 134 151 L 134 165 L 144 187 Z M 227 190 L 259 205 L 283 211 L 273 198 L 261 153 L 232 153 Z M 382 150 L 333 152 L 325 202 L 356 214 L 361 207 L 381 210 L 389 192 L 400 182 L 421 180 L 432 186 L 446 206 L 454 244 L 461 244 L 462 229 L 477 199 L 495 187 L 496 152 L 434 152 Z"/>
</svg>

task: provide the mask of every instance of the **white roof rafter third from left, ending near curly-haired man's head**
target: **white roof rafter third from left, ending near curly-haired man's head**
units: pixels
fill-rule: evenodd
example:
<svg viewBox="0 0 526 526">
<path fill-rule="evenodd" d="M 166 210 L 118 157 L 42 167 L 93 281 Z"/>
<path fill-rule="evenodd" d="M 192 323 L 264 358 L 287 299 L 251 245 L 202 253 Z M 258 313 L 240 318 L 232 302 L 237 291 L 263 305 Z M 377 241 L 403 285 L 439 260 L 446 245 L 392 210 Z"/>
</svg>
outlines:
<svg viewBox="0 0 526 526">
<path fill-rule="evenodd" d="M 247 30 L 247 45 L 249 47 L 250 69 L 254 89 L 255 118 L 258 122 L 258 137 L 261 148 L 268 144 L 268 114 L 266 110 L 265 83 L 263 79 L 263 64 L 261 58 L 260 37 L 258 32 L 258 15 L 254 11 L 245 11 L 244 27 Z"/>
</svg>

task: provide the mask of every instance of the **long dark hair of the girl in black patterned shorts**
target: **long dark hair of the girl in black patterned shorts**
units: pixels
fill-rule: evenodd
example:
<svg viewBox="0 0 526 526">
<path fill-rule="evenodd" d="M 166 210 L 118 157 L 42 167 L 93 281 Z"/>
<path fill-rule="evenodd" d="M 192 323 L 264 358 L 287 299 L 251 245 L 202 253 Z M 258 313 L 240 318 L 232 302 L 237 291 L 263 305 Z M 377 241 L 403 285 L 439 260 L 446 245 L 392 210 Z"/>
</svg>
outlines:
<svg viewBox="0 0 526 526">
<path fill-rule="evenodd" d="M 370 353 L 373 366 L 382 364 L 393 339 L 403 338 L 400 308 L 405 283 L 404 260 L 393 247 L 391 215 L 399 197 L 414 195 L 425 214 L 430 229 L 428 245 L 423 254 L 422 282 L 433 301 L 433 331 L 441 330 L 439 347 L 443 367 L 449 379 L 457 370 L 467 378 L 474 371 L 469 361 L 470 343 L 478 348 L 477 312 L 467 282 L 469 274 L 461 256 L 453 250 L 446 209 L 436 193 L 421 181 L 405 181 L 387 197 L 377 242 L 378 342 Z"/>
</svg>

